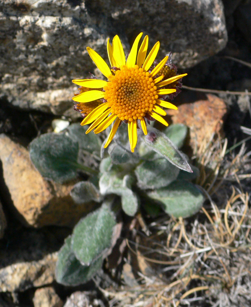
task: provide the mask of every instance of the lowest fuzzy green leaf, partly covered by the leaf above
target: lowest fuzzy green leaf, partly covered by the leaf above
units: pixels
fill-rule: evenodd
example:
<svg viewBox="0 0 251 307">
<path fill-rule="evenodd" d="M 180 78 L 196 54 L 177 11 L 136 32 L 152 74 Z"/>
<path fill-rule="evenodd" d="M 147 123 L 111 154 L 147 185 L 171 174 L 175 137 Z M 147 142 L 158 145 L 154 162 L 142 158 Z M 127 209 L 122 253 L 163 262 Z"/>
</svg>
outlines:
<svg viewBox="0 0 251 307">
<path fill-rule="evenodd" d="M 90 266 L 83 266 L 71 250 L 71 237 L 69 236 L 58 253 L 56 263 L 56 281 L 64 286 L 78 286 L 88 282 L 92 276 L 101 269 L 102 257 Z"/>
</svg>

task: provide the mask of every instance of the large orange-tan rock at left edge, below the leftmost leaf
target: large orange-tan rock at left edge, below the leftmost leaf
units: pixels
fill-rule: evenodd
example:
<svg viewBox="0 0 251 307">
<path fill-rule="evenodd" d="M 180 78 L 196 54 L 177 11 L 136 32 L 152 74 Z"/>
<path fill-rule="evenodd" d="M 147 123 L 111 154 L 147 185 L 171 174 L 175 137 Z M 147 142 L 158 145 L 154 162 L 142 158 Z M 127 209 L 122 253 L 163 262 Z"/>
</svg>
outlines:
<svg viewBox="0 0 251 307">
<path fill-rule="evenodd" d="M 69 194 L 73 183 L 60 185 L 44 180 L 30 161 L 29 152 L 4 134 L 0 134 L 0 160 L 13 211 L 27 226 L 73 227 L 93 208 L 94 203 L 74 203 Z M 6 191 L 1 193 L 6 196 Z"/>
</svg>

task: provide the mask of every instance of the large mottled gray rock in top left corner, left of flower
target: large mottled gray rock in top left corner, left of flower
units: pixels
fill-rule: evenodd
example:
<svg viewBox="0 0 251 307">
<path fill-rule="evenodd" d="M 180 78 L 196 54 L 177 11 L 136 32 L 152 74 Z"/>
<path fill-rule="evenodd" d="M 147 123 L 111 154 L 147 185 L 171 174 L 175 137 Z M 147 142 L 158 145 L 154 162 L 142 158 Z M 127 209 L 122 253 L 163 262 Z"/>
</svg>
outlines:
<svg viewBox="0 0 251 307">
<path fill-rule="evenodd" d="M 1 95 L 15 106 L 62 115 L 73 108 L 71 79 L 93 70 L 86 47 L 104 55 L 107 35 L 88 24 L 84 2 L 18 3 L 0 0 Z"/>
</svg>

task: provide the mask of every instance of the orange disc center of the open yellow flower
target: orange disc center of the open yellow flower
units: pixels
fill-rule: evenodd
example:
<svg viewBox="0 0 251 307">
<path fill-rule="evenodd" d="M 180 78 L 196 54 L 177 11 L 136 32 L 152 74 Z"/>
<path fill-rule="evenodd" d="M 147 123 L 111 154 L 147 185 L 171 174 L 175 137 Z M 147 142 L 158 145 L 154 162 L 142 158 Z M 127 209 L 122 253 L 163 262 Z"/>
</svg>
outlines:
<svg viewBox="0 0 251 307">
<path fill-rule="evenodd" d="M 129 122 L 142 119 L 151 112 L 158 99 L 153 78 L 138 65 L 132 68 L 125 65 L 117 70 L 115 76 L 109 77 L 104 90 L 104 99 L 109 103 L 111 113 Z"/>
</svg>

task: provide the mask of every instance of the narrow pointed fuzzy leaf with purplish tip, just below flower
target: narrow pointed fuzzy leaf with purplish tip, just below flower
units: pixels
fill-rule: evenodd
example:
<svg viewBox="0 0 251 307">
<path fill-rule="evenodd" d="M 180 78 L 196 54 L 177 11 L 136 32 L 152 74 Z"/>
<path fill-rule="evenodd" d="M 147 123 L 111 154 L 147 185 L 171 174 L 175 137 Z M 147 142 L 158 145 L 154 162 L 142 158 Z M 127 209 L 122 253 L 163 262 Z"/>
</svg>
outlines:
<svg viewBox="0 0 251 307">
<path fill-rule="evenodd" d="M 164 133 L 149 126 L 148 134 L 142 139 L 152 150 L 165 157 L 173 165 L 192 173 L 192 169 L 184 155 L 176 148 L 176 146 Z"/>
</svg>

